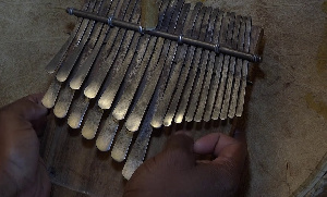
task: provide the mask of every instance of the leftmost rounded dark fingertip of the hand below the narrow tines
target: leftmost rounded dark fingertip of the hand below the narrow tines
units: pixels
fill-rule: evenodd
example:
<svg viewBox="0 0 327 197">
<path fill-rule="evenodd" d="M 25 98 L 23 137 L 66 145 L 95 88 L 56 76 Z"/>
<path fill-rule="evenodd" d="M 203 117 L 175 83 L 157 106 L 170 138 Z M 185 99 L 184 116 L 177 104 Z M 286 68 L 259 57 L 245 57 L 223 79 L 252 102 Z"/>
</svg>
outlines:
<svg viewBox="0 0 327 197">
<path fill-rule="evenodd" d="M 167 141 L 164 148 L 164 157 L 167 162 L 172 162 L 185 167 L 185 164 L 194 165 L 194 140 L 185 132 L 177 132 Z"/>
</svg>

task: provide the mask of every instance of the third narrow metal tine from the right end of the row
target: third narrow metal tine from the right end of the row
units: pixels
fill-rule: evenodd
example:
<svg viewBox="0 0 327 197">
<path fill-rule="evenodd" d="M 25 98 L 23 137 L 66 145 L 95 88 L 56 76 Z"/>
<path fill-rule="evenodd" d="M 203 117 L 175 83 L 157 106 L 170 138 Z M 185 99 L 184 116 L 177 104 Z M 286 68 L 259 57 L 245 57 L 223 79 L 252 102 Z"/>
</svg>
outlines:
<svg viewBox="0 0 327 197">
<path fill-rule="evenodd" d="M 241 16 L 238 15 L 237 20 L 235 20 L 233 38 L 232 38 L 232 48 L 233 49 L 238 48 L 240 27 L 241 27 Z M 230 98 L 231 98 L 231 90 L 232 90 L 233 81 L 234 81 L 235 64 L 237 64 L 237 58 L 231 57 L 230 63 L 229 63 L 228 76 L 227 76 L 228 81 L 227 81 L 227 86 L 226 86 L 226 91 L 225 91 L 225 99 L 223 99 L 223 103 L 222 103 L 222 108 L 221 108 L 221 112 L 220 112 L 221 120 L 227 119 L 228 109 L 230 107 Z"/>
</svg>

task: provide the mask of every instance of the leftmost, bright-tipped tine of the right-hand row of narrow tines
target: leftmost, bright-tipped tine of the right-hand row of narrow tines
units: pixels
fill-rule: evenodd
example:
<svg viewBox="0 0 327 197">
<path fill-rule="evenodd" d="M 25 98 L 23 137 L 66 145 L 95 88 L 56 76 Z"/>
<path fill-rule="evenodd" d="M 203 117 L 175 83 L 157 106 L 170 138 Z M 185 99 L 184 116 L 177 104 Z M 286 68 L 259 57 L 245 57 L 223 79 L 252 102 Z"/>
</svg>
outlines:
<svg viewBox="0 0 327 197">
<path fill-rule="evenodd" d="M 190 8 L 187 8 L 191 4 L 186 4 L 184 8 L 190 9 Z M 202 3 L 197 3 L 195 5 L 195 8 L 193 9 L 192 13 L 187 14 L 187 19 L 185 20 L 185 24 L 179 24 L 178 25 L 178 27 L 183 26 L 183 35 L 186 35 L 187 37 L 192 36 L 192 29 L 193 29 L 193 26 L 194 26 L 195 20 L 197 17 L 197 13 L 199 11 L 201 5 L 202 5 Z M 183 46 L 180 46 L 178 48 L 177 58 L 175 58 L 175 61 L 174 61 L 177 63 L 175 63 L 173 73 L 172 73 L 171 77 L 169 78 L 169 82 L 167 84 L 167 88 L 165 90 L 165 94 L 162 94 L 159 97 L 159 103 L 158 103 L 158 107 L 156 109 L 155 115 L 152 120 L 152 125 L 154 127 L 160 127 L 162 125 L 164 116 L 165 116 L 167 108 L 169 106 L 169 102 L 170 102 L 170 99 L 171 99 L 171 96 L 172 96 L 172 91 L 174 89 L 174 86 L 178 85 L 178 83 L 177 83 L 178 77 L 179 77 L 178 75 L 180 74 L 179 72 L 180 72 L 180 70 L 183 65 L 187 47 L 189 47 L 187 45 L 183 45 Z"/>
</svg>

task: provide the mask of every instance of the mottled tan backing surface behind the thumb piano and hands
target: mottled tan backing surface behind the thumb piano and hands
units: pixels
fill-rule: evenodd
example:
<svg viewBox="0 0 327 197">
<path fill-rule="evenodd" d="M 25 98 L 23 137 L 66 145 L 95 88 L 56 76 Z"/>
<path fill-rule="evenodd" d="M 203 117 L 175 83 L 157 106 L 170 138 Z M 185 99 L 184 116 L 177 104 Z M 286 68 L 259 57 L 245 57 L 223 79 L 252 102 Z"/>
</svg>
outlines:
<svg viewBox="0 0 327 197">
<path fill-rule="evenodd" d="M 0 106 L 47 89 L 52 78 L 46 75 L 45 65 L 76 22 L 64 9 L 78 8 L 82 1 L 0 1 Z M 254 24 L 265 29 L 264 62 L 252 87 L 246 122 L 247 196 L 289 196 L 316 172 L 318 163 L 324 163 L 327 150 L 327 2 L 207 0 L 204 3 L 251 15 Z M 64 134 L 71 134 L 62 126 L 57 132 L 61 131 L 64 143 L 58 140 L 63 148 L 70 148 Z M 82 140 L 77 135 L 71 137 Z M 159 141 L 159 137 L 154 140 Z M 57 159 L 60 157 L 63 156 Z M 80 176 L 76 178 L 83 180 Z M 116 188 L 123 183 L 104 185 Z M 56 190 L 59 196 L 65 194 L 57 187 Z"/>
</svg>

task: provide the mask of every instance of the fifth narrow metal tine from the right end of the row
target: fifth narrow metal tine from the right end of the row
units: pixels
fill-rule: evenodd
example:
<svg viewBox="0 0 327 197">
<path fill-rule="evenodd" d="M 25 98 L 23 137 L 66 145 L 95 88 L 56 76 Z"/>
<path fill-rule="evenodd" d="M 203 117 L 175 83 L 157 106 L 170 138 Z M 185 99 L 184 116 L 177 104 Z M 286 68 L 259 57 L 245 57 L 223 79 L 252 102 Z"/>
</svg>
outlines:
<svg viewBox="0 0 327 197">
<path fill-rule="evenodd" d="M 217 44 L 220 44 L 225 39 L 226 37 L 223 37 L 223 27 L 222 27 L 222 20 L 223 20 L 223 15 L 225 13 L 222 11 L 219 12 L 219 16 L 217 19 L 217 24 L 216 27 L 217 29 L 217 36 L 218 36 L 218 41 Z M 216 28 L 215 27 L 215 28 Z M 211 84 L 210 84 L 210 90 L 208 93 L 208 98 L 207 98 L 207 102 L 206 102 L 206 107 L 205 107 L 205 114 L 204 114 L 204 121 L 208 122 L 211 119 L 211 114 L 213 114 L 213 109 L 214 109 L 214 104 L 215 104 L 215 100 L 216 100 L 216 95 L 219 88 L 219 79 L 220 79 L 220 72 L 221 72 L 221 67 L 222 67 L 222 62 L 223 62 L 223 54 L 214 54 L 215 56 L 215 65 L 214 65 L 214 70 L 213 70 L 213 78 L 211 78 Z"/>
</svg>

